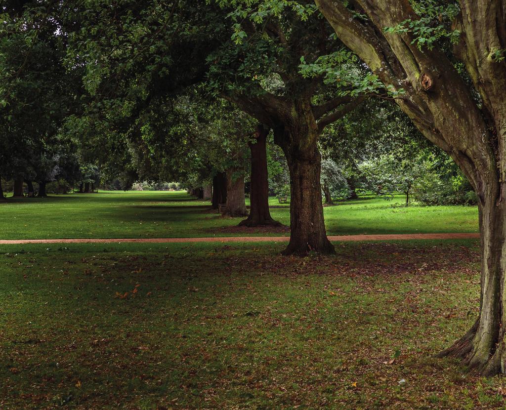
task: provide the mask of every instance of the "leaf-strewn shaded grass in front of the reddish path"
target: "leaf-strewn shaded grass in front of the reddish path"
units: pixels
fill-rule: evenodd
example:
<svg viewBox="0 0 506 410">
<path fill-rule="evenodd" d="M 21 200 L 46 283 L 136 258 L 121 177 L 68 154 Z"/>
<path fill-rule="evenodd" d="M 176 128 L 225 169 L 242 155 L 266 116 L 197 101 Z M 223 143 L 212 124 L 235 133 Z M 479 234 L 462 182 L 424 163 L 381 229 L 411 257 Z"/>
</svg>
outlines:
<svg viewBox="0 0 506 410">
<path fill-rule="evenodd" d="M 502 408 L 477 243 L 0 246 L 0 408 Z"/>
</svg>

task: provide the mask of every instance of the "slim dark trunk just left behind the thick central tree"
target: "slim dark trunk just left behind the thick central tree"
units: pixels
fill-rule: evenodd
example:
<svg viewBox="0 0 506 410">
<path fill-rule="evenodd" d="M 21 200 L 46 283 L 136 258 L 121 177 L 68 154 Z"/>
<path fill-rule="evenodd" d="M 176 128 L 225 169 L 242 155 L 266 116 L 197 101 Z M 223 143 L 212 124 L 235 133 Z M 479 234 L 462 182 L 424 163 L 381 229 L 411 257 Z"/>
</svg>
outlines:
<svg viewBox="0 0 506 410">
<path fill-rule="evenodd" d="M 267 135 L 269 129 L 259 125 L 255 133 L 255 142 L 249 143 L 251 151 L 251 175 L 249 194 L 249 215 L 239 223 L 239 226 L 281 226 L 272 219 L 269 211 L 269 179 L 267 173 Z"/>
</svg>

